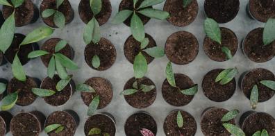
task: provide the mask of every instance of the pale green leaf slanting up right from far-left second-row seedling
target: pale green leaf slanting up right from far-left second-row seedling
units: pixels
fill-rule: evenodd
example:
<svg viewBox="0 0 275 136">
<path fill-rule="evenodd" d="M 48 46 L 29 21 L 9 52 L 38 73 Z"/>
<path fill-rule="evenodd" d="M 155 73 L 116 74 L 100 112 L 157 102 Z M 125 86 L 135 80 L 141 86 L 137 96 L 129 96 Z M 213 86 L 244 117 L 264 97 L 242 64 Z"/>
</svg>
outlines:
<svg viewBox="0 0 275 136">
<path fill-rule="evenodd" d="M 20 45 L 31 44 L 33 42 L 38 42 L 46 37 L 49 37 L 53 33 L 53 29 L 48 26 L 41 26 L 36 28 L 31 33 L 28 33 Z"/>
</svg>

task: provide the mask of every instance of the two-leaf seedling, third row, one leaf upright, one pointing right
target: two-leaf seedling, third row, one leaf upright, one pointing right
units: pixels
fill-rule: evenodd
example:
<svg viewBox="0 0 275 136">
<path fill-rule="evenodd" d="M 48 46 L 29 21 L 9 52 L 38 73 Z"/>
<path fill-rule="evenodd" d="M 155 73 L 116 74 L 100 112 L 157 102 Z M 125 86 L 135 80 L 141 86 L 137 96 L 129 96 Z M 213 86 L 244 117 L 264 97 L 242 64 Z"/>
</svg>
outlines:
<svg viewBox="0 0 275 136">
<path fill-rule="evenodd" d="M 172 87 L 176 87 L 179 92 L 181 92 L 182 94 L 185 94 L 185 95 L 190 95 L 190 96 L 197 94 L 197 92 L 198 92 L 197 84 L 194 85 L 193 87 L 185 89 L 185 90 L 181 90 L 181 88 L 176 86 L 176 80 L 175 80 L 171 62 L 168 62 L 165 72 L 166 72 L 166 78 L 167 78 L 169 85 L 171 85 Z"/>
</svg>

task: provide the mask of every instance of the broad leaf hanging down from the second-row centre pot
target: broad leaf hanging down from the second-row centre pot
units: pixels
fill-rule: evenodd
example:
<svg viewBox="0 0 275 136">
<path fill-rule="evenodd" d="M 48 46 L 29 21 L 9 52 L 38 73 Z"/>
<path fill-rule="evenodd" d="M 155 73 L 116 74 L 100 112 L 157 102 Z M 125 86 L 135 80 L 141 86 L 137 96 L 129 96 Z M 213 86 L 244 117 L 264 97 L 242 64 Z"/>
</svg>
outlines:
<svg viewBox="0 0 275 136">
<path fill-rule="evenodd" d="M 135 56 L 133 69 L 135 78 L 142 78 L 147 73 L 148 64 L 142 53 L 138 53 L 138 55 Z"/>
</svg>

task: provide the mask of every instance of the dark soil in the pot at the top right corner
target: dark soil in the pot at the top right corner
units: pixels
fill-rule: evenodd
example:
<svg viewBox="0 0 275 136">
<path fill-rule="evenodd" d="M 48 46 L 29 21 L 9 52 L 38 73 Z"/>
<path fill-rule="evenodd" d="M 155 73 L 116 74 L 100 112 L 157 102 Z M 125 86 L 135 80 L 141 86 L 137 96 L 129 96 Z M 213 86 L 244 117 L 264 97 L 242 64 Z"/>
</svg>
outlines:
<svg viewBox="0 0 275 136">
<path fill-rule="evenodd" d="M 267 22 L 267 19 L 275 17 L 275 2 L 273 0 L 249 0 L 250 15 L 259 22 Z"/>
</svg>

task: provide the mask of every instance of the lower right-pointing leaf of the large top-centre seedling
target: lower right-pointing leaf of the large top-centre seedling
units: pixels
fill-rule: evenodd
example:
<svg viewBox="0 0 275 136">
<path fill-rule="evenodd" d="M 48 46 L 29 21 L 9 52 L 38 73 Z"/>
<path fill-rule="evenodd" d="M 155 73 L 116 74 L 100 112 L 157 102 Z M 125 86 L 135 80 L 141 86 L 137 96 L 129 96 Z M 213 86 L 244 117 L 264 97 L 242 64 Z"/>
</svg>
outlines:
<svg viewBox="0 0 275 136">
<path fill-rule="evenodd" d="M 145 15 L 150 18 L 164 20 L 169 17 L 169 12 L 163 10 L 156 10 L 153 8 L 145 8 L 143 10 L 138 11 L 140 14 Z"/>
</svg>

